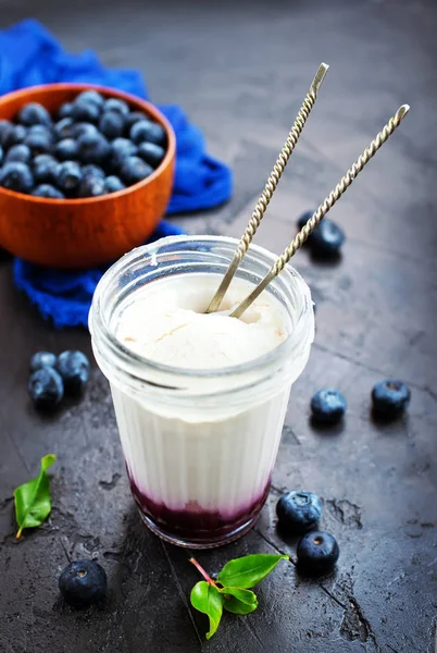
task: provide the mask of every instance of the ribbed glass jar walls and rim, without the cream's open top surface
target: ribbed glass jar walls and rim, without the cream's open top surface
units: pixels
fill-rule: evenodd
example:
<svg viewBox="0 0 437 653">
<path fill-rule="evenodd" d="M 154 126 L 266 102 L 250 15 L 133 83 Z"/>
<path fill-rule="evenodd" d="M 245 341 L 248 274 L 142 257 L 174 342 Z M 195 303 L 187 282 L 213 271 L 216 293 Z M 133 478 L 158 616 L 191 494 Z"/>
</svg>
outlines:
<svg viewBox="0 0 437 653">
<path fill-rule="evenodd" d="M 134 498 L 153 532 L 191 549 L 237 539 L 266 500 L 291 384 L 314 337 L 310 289 L 287 266 L 264 293 L 284 309 L 288 336 L 260 358 L 221 369 L 147 359 L 117 340 L 116 326 L 126 303 L 147 284 L 214 274 L 218 285 L 236 245 L 234 238 L 184 235 L 134 249 L 103 275 L 89 315 Z M 236 276 L 257 284 L 275 259 L 252 245 Z"/>
</svg>

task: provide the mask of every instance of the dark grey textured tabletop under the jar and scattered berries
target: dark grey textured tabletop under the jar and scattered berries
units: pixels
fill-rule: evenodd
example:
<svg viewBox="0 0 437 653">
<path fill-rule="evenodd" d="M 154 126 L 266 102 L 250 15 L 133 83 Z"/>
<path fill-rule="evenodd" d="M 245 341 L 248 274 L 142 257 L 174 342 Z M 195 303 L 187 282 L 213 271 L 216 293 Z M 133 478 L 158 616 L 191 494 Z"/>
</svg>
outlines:
<svg viewBox="0 0 437 653">
<path fill-rule="evenodd" d="M 323 199 L 399 104 L 411 115 L 330 215 L 347 232 L 341 261 L 298 252 L 312 286 L 317 333 L 296 383 L 274 476 L 253 531 L 198 555 L 210 570 L 275 550 L 279 491 L 324 498 L 322 526 L 337 537 L 336 574 L 308 581 L 282 564 L 260 608 L 226 615 L 205 643 L 189 607 L 198 580 L 182 550 L 141 525 L 129 496 L 108 385 L 93 369 L 79 404 L 52 419 L 30 407 L 36 349 L 89 352 L 85 332 L 54 332 L 0 267 L 0 651 L 5 653 L 434 653 L 437 615 L 436 72 L 434 1 L 229 3 L 214 9 L 132 0 L 0 3 L 0 25 L 37 13 L 65 46 L 96 48 L 109 65 L 140 67 L 157 101 L 183 104 L 210 149 L 235 169 L 235 195 L 191 232 L 239 236 L 288 127 L 324 60 L 332 64 L 292 163 L 257 241 L 279 251 L 301 210 Z M 217 3 L 218 4 L 218 3 Z M 370 392 L 395 374 L 412 389 L 408 415 L 370 419 Z M 316 431 L 309 401 L 321 385 L 345 393 L 341 428 Z M 55 453 L 53 510 L 15 543 L 13 489 Z M 95 556 L 110 584 L 103 608 L 74 612 L 58 596 L 70 557 Z"/>
</svg>

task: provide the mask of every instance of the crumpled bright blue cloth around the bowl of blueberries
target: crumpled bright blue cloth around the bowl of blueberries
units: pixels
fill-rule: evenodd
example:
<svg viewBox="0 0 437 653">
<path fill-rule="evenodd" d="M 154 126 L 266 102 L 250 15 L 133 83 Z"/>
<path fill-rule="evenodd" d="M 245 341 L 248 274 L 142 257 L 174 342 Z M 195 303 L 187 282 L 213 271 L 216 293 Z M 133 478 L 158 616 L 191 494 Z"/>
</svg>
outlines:
<svg viewBox="0 0 437 653">
<path fill-rule="evenodd" d="M 148 99 L 137 71 L 110 70 L 92 51 L 68 54 L 37 21 L 26 20 L 0 32 L 0 94 L 55 82 L 101 84 Z M 227 165 L 205 151 L 203 136 L 176 104 L 160 106 L 176 134 L 176 171 L 167 213 L 189 212 L 217 206 L 232 195 Z M 163 222 L 152 239 L 183 233 Z M 45 318 L 58 328 L 87 324 L 92 293 L 104 269 L 85 272 L 53 271 L 14 261 L 14 279 Z"/>
</svg>

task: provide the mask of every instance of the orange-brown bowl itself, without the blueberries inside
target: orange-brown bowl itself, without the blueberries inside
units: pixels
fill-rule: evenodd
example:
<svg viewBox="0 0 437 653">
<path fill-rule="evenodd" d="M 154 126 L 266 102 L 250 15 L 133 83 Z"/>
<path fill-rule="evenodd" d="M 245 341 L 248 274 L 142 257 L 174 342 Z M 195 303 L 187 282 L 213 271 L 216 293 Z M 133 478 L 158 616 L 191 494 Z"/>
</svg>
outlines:
<svg viewBox="0 0 437 653">
<path fill-rule="evenodd" d="M 50 113 L 82 90 L 126 100 L 160 123 L 167 136 L 162 163 L 146 180 L 125 190 L 85 199 L 46 199 L 0 186 L 0 246 L 23 259 L 54 268 L 108 263 L 141 245 L 167 207 L 173 186 L 175 135 L 160 111 L 126 93 L 89 84 L 49 84 L 0 98 L 0 120 L 13 120 L 27 102 L 40 102 Z"/>
</svg>

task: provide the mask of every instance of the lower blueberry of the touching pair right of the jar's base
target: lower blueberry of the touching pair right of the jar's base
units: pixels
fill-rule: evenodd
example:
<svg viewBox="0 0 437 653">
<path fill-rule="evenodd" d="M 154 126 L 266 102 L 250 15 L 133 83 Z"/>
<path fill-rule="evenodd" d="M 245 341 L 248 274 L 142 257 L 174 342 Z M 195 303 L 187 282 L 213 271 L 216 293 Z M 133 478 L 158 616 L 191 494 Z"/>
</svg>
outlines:
<svg viewBox="0 0 437 653">
<path fill-rule="evenodd" d="M 296 555 L 298 568 L 321 576 L 330 571 L 338 560 L 340 550 L 337 540 L 330 533 L 312 531 L 299 540 Z"/>
</svg>

